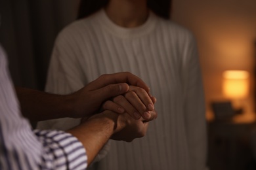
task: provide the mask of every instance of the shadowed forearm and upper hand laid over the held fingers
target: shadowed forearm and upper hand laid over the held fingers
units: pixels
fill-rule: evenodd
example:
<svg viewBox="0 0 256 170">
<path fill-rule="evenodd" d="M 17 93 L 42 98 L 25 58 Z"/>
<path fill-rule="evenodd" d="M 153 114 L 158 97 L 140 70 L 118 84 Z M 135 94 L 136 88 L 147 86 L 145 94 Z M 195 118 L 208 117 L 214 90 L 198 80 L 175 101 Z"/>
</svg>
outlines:
<svg viewBox="0 0 256 170">
<path fill-rule="evenodd" d="M 28 88 L 16 88 L 16 93 L 22 114 L 32 121 L 64 117 L 81 118 L 91 116 L 110 97 L 127 92 L 128 84 L 143 88 L 149 93 L 148 86 L 138 76 L 128 72 L 102 75 L 70 95 L 57 95 Z M 124 112 L 121 106 L 118 108 L 120 113 Z"/>
</svg>

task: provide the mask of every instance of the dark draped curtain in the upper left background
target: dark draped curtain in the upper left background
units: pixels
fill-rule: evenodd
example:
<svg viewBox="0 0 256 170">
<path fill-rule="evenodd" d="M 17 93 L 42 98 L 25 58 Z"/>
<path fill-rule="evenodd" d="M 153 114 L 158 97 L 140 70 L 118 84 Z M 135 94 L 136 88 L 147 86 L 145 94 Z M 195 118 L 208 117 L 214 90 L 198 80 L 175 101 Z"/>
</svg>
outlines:
<svg viewBox="0 0 256 170">
<path fill-rule="evenodd" d="M 0 43 L 15 86 L 44 90 L 54 39 L 79 0 L 0 0 Z"/>
</svg>

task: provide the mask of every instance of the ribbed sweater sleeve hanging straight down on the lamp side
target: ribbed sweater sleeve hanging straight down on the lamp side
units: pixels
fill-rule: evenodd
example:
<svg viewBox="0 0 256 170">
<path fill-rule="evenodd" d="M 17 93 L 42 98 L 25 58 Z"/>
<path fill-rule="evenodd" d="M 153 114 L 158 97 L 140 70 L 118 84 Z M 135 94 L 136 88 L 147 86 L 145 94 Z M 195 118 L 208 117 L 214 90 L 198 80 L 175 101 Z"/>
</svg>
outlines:
<svg viewBox="0 0 256 170">
<path fill-rule="evenodd" d="M 185 42 L 183 61 L 184 112 L 191 169 L 207 169 L 207 131 L 200 61 L 194 37 Z"/>
</svg>

